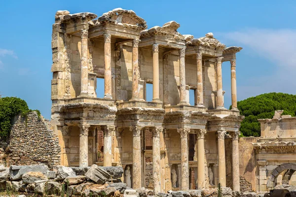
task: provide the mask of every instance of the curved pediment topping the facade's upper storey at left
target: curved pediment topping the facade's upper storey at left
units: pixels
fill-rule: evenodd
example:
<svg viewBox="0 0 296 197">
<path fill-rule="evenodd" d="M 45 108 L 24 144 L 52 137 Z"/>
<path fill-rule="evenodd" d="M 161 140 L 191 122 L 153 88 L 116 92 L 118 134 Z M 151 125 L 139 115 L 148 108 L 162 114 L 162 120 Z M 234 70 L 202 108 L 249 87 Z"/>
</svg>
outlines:
<svg viewBox="0 0 296 197">
<path fill-rule="evenodd" d="M 139 17 L 133 10 L 115 8 L 104 13 L 97 20 L 99 23 L 111 22 L 114 25 L 124 26 L 131 29 L 145 30 L 147 28 L 146 21 Z"/>
</svg>

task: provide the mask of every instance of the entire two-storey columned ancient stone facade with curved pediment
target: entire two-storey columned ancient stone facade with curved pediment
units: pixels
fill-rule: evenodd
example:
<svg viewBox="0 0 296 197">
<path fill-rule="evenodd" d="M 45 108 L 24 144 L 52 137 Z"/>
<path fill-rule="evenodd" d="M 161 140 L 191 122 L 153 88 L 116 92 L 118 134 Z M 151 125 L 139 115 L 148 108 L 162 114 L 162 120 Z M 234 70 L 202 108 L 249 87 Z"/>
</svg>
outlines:
<svg viewBox="0 0 296 197">
<path fill-rule="evenodd" d="M 213 33 L 182 35 L 179 27 L 171 21 L 148 29 L 134 11 L 121 8 L 100 17 L 56 13 L 51 123 L 62 165 L 121 165 L 127 173 L 123 181 L 156 194 L 225 187 L 227 133 L 232 189 L 240 190 L 243 116 L 237 110 L 235 68 L 242 48 L 226 47 Z M 231 65 L 231 110 L 223 103 L 225 61 Z M 104 78 L 104 90 L 96 87 L 97 78 Z M 149 83 L 152 101 L 146 99 Z M 97 98 L 100 91 L 104 98 Z"/>
</svg>

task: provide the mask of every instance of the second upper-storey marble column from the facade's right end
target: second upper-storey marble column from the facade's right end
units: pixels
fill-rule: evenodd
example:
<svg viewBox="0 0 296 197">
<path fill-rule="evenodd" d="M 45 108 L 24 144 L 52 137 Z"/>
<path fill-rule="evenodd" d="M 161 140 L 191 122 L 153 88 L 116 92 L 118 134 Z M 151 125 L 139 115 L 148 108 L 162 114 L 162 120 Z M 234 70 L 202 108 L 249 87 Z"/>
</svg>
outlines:
<svg viewBox="0 0 296 197">
<path fill-rule="evenodd" d="M 223 89 L 222 89 L 222 59 L 216 58 L 217 62 L 217 109 L 224 109 L 223 103 Z"/>
</svg>

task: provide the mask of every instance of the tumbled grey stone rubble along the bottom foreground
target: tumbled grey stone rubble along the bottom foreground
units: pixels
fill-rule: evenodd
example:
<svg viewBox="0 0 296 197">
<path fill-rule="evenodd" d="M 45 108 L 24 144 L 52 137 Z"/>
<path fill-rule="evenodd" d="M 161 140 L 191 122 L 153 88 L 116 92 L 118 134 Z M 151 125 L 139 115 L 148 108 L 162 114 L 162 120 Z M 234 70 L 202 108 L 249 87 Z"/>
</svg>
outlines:
<svg viewBox="0 0 296 197">
<path fill-rule="evenodd" d="M 122 183 L 120 178 L 123 169 L 120 166 L 102 167 L 93 164 L 91 167 L 54 166 L 49 170 L 45 164 L 36 165 L 0 165 L 0 187 L 18 192 L 20 196 L 59 195 L 67 197 L 217 197 L 217 189 L 169 191 L 158 193 L 144 187 L 131 189 Z M 275 189 L 286 189 L 296 194 L 296 187 L 279 185 Z M 271 194 L 271 193 L 270 193 Z M 234 192 L 222 188 L 222 197 L 264 197 L 255 192 Z"/>
</svg>

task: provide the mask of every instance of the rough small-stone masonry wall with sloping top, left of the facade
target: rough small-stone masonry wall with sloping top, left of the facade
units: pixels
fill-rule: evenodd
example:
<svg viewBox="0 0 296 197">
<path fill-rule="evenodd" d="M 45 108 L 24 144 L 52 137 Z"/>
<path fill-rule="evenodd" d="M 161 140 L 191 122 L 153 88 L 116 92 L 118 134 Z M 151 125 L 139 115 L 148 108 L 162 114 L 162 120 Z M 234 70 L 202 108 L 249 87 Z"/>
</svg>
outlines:
<svg viewBox="0 0 296 197">
<path fill-rule="evenodd" d="M 9 139 L 0 141 L 0 162 L 9 165 L 60 164 L 58 137 L 50 129 L 50 122 L 37 112 L 27 117 L 16 116 L 13 120 Z"/>
</svg>

